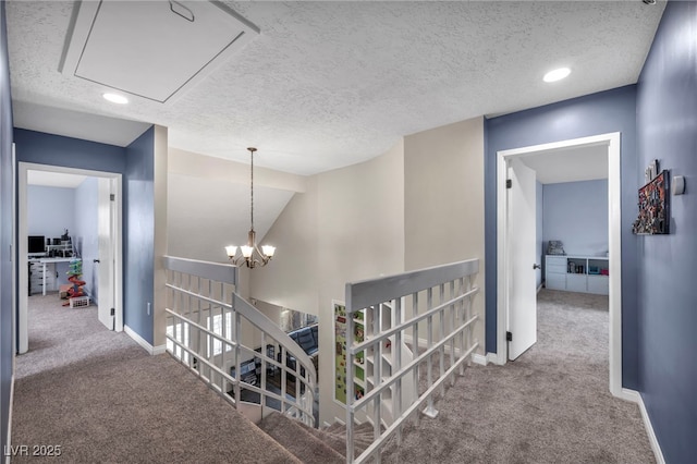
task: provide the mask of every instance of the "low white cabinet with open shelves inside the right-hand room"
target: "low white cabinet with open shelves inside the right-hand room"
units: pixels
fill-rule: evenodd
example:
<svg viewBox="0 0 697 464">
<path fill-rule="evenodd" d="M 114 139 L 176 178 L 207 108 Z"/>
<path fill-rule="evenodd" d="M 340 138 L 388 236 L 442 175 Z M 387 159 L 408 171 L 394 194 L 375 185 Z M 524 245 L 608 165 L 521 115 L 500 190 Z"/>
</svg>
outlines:
<svg viewBox="0 0 697 464">
<path fill-rule="evenodd" d="M 608 258 L 547 255 L 545 286 L 550 290 L 607 295 L 610 289 Z"/>
</svg>

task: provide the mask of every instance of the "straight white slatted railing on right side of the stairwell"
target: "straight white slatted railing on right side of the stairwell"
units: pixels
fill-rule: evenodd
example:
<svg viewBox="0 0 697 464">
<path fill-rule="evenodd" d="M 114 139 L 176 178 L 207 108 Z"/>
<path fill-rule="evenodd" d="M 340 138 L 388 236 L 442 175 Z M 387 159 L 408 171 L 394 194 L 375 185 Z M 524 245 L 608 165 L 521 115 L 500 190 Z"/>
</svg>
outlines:
<svg viewBox="0 0 697 464">
<path fill-rule="evenodd" d="M 399 445 L 404 423 L 409 418 L 418 422 L 421 406 L 426 406 L 425 415 L 436 417 L 433 395 L 442 396 L 447 380 L 454 383 L 454 375 L 464 374 L 465 363 L 479 346 L 473 333 L 478 318 L 473 314 L 478 271 L 479 260 L 469 259 L 346 284 L 347 463 L 370 457 L 379 463 L 386 441 L 396 436 Z M 354 337 L 360 321 L 365 323 L 363 337 Z M 401 353 L 405 345 L 413 352 L 406 364 Z M 356 398 L 356 359 L 362 358 L 365 393 Z M 382 417 L 386 404 L 389 420 Z M 354 456 L 357 417 L 372 424 L 374 442 Z"/>
</svg>

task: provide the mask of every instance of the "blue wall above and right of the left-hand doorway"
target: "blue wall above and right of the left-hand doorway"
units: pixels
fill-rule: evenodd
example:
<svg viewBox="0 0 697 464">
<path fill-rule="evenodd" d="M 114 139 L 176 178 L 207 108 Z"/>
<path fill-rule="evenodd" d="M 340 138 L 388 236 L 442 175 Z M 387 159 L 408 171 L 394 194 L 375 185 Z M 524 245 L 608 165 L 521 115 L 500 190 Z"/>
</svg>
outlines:
<svg viewBox="0 0 697 464">
<path fill-rule="evenodd" d="M 155 269 L 151 193 L 154 133 L 151 127 L 130 147 L 123 148 L 14 130 L 19 161 L 123 174 L 123 321 L 150 343 L 152 316 L 145 314 L 145 307 L 152 302 Z"/>
</svg>

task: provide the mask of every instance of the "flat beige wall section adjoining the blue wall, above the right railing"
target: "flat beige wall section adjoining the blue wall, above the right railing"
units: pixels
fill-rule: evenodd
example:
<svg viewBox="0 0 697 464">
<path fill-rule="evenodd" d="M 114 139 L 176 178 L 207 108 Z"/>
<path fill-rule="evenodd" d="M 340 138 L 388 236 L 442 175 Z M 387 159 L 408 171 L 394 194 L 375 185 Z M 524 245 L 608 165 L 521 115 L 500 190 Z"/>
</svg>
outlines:
<svg viewBox="0 0 697 464">
<path fill-rule="evenodd" d="M 405 137 L 404 210 L 406 270 L 479 259 L 475 335 L 484 354 L 484 118 Z"/>
</svg>

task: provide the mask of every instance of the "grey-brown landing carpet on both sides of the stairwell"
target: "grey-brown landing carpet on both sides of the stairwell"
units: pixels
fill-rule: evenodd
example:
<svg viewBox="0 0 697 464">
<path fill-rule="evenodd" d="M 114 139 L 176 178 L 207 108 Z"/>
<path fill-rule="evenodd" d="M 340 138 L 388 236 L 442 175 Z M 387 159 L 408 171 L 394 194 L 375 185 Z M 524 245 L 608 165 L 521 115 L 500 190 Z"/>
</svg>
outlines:
<svg viewBox="0 0 697 464">
<path fill-rule="evenodd" d="M 61 445 L 62 460 L 76 463 L 315 463 L 332 454 L 293 456 L 169 355 L 149 356 L 106 330 L 94 307 L 29 301 L 13 445 Z M 537 343 L 506 366 L 467 368 L 437 399 L 438 417 L 407 424 L 382 462 L 653 463 L 637 405 L 609 392 L 608 333 L 607 297 L 543 290 Z M 303 434 L 291 435 L 302 451 Z"/>
</svg>

